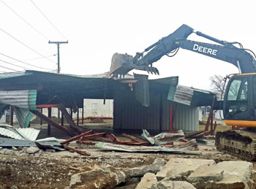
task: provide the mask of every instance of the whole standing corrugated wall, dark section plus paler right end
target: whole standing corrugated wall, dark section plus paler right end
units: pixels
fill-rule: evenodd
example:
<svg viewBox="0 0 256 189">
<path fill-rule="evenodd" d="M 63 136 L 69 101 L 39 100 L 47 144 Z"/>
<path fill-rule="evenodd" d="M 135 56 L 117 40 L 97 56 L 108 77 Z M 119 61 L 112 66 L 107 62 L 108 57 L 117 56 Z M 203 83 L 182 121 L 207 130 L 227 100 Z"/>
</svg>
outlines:
<svg viewBox="0 0 256 189">
<path fill-rule="evenodd" d="M 114 93 L 115 129 L 146 129 L 148 131 L 169 131 L 170 101 L 165 94 L 150 93 L 150 107 L 143 107 L 135 100 L 132 91 L 118 90 Z M 160 127 L 160 98 L 162 96 L 162 128 Z M 177 104 L 173 127 L 183 131 L 199 130 L 197 107 Z"/>
</svg>

